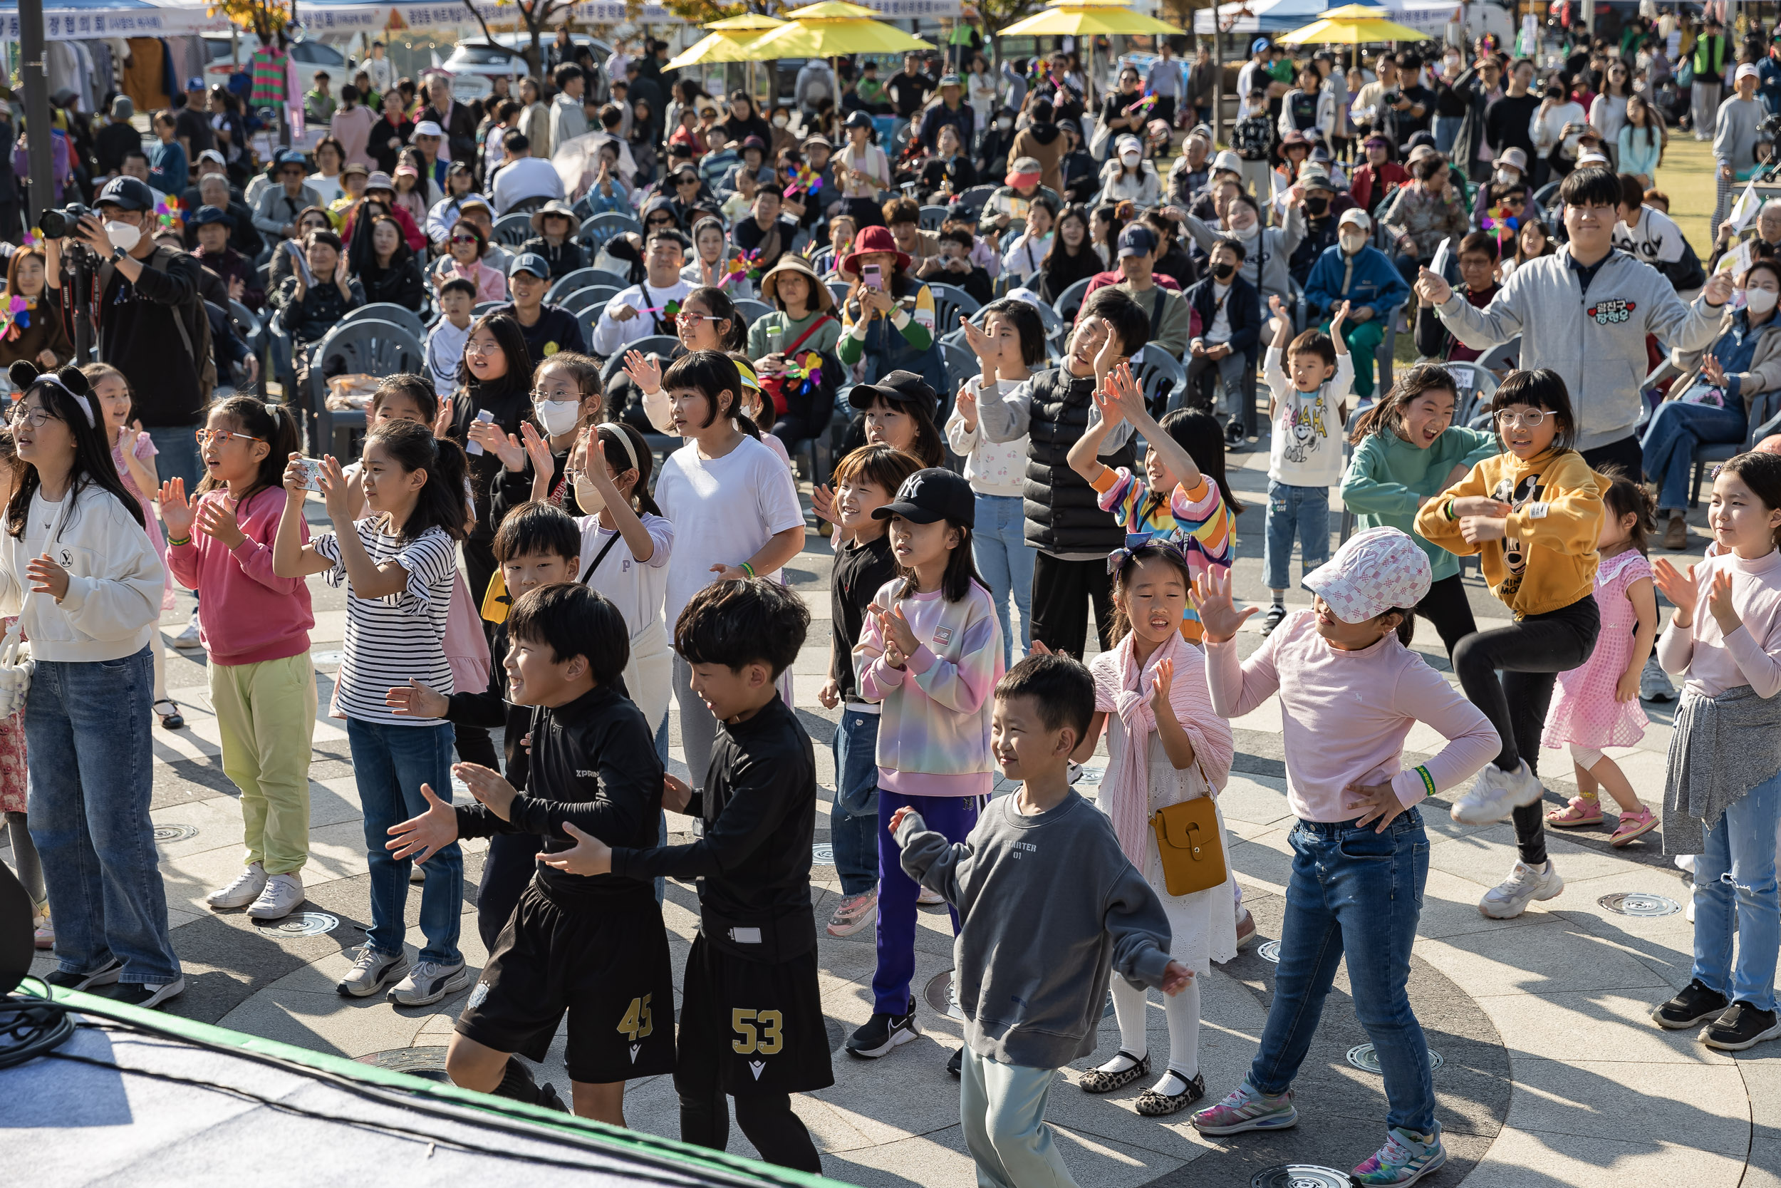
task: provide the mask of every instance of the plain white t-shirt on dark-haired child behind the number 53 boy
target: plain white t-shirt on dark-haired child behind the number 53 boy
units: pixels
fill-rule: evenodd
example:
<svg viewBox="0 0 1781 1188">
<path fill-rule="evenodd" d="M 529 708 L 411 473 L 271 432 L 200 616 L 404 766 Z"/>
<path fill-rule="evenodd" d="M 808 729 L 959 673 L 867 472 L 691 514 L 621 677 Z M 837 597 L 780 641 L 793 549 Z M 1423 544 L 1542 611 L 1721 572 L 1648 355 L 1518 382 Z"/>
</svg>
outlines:
<svg viewBox="0 0 1781 1188">
<path fill-rule="evenodd" d="M 696 442 L 668 454 L 655 481 L 655 502 L 675 525 L 664 607 L 670 623 L 695 593 L 716 581 L 712 565 L 741 565 L 768 538 L 803 527 L 791 470 L 752 436 L 743 436 L 723 458 L 700 458 Z M 780 572 L 759 577 L 780 581 Z"/>
</svg>

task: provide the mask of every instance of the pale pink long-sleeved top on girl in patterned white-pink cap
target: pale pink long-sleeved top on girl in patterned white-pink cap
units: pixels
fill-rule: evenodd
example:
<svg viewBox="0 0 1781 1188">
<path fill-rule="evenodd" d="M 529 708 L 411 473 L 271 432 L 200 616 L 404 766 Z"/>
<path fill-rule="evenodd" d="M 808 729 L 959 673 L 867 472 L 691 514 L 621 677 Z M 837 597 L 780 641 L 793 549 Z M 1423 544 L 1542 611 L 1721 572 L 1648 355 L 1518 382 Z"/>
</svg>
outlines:
<svg viewBox="0 0 1781 1188">
<path fill-rule="evenodd" d="M 1391 780 L 1409 809 L 1471 778 L 1503 748 L 1484 711 L 1396 634 L 1343 652 L 1318 634 L 1313 611 L 1288 614 L 1248 661 L 1238 661 L 1236 639 L 1208 639 L 1206 682 L 1213 709 L 1225 718 L 1241 718 L 1279 691 L 1286 800 L 1305 821 L 1355 819 L 1359 812 L 1343 807 L 1343 789 L 1355 782 Z M 1403 739 L 1414 721 L 1427 721 L 1448 745 L 1403 771 Z"/>
</svg>

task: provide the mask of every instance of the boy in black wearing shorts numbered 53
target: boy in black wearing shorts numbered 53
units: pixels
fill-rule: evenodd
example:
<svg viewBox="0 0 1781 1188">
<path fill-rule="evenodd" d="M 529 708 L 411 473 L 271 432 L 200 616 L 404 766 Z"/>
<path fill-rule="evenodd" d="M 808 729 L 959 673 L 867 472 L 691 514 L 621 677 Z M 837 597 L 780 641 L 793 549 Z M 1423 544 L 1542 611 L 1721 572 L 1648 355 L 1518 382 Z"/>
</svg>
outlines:
<svg viewBox="0 0 1781 1188">
<path fill-rule="evenodd" d="M 798 655 L 810 613 L 755 577 L 705 586 L 680 611 L 673 647 L 718 718 L 707 787 L 666 778 L 664 803 L 698 818 L 689 846 L 581 844 L 545 855 L 559 871 L 629 880 L 698 878 L 698 937 L 680 997 L 680 1140 L 723 1151 L 736 1120 L 768 1163 L 821 1172 L 791 1094 L 828 1088 L 828 1031 L 816 981 L 810 839 L 816 755 L 775 680 Z"/>
</svg>

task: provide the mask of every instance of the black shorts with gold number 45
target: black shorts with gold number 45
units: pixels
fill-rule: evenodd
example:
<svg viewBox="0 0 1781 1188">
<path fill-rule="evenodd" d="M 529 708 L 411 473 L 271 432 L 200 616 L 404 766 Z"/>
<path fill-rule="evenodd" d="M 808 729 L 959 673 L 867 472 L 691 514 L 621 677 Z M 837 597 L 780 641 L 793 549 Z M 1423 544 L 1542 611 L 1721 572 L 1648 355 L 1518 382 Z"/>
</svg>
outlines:
<svg viewBox="0 0 1781 1188">
<path fill-rule="evenodd" d="M 563 907 L 533 880 L 456 1029 L 541 1062 L 565 1010 L 570 1079 L 609 1085 L 673 1070 L 673 967 L 648 883 Z"/>
</svg>

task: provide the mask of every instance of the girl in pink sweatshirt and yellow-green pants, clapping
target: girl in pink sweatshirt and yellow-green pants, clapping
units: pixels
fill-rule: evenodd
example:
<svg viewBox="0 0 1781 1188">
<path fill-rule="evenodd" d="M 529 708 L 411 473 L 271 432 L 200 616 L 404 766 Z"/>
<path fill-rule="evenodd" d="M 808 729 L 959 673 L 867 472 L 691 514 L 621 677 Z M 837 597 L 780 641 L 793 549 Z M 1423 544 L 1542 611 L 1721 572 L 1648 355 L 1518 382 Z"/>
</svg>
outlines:
<svg viewBox="0 0 1781 1188">
<path fill-rule="evenodd" d="M 272 572 L 285 509 L 280 481 L 297 449 L 297 424 L 283 404 L 232 395 L 210 406 L 198 443 L 205 477 L 196 500 L 187 502 L 185 479 L 169 479 L 160 513 L 171 534 L 167 565 L 198 591 L 223 771 L 240 789 L 246 842 L 240 875 L 205 903 L 281 919 L 303 903 L 315 741 L 310 588 Z M 306 524 L 296 531 L 308 541 Z"/>
</svg>

